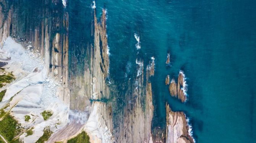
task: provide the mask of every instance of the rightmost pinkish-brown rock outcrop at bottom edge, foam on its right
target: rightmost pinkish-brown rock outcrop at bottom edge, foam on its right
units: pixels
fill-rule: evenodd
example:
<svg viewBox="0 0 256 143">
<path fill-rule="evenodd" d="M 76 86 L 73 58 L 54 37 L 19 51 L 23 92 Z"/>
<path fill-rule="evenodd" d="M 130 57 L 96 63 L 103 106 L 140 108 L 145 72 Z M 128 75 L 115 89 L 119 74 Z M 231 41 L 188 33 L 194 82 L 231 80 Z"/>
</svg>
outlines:
<svg viewBox="0 0 256 143">
<path fill-rule="evenodd" d="M 166 143 L 194 143 L 183 112 L 173 112 L 166 103 Z"/>
</svg>

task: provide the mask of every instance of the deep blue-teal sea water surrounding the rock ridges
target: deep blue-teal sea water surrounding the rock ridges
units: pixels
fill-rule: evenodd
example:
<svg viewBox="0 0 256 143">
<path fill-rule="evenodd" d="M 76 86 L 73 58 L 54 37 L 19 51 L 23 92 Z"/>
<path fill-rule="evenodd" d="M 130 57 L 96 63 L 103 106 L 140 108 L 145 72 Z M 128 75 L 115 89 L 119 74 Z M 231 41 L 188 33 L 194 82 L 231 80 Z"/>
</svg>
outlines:
<svg viewBox="0 0 256 143">
<path fill-rule="evenodd" d="M 91 41 L 91 4 L 70 0 L 66 7 L 75 56 Z M 96 0 L 98 17 L 102 8 L 107 9 L 110 76 L 116 84 L 136 72 L 138 51 L 145 63 L 156 59 L 152 128 L 165 127 L 168 102 L 189 117 L 198 143 L 255 143 L 255 0 Z M 134 33 L 141 40 L 139 50 Z M 172 67 L 165 65 L 167 52 Z M 188 84 L 186 103 L 171 97 L 164 82 L 180 70 Z"/>
</svg>

